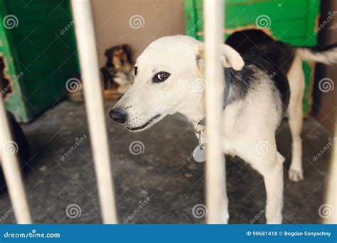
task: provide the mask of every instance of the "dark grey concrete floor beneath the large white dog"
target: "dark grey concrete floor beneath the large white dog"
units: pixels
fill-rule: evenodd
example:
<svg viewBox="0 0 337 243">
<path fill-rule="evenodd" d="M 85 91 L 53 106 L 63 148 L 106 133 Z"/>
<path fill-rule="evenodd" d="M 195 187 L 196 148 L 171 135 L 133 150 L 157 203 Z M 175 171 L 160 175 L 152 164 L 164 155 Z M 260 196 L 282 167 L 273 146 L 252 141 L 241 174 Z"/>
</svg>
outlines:
<svg viewBox="0 0 337 243">
<path fill-rule="evenodd" d="M 106 111 L 109 107 L 107 104 Z M 107 126 L 121 223 L 205 222 L 192 213 L 195 205 L 205 203 L 204 163 L 187 158 L 197 140 L 183 117 L 167 117 L 149 131 L 137 134 L 108 117 Z M 33 123 L 23 125 L 23 130 L 32 148 L 31 168 L 24 175 L 24 183 L 34 222 L 101 223 L 84 105 L 59 102 Z M 319 207 L 324 203 L 331 151 L 317 161 L 313 157 L 328 144 L 330 136 L 314 119 L 306 119 L 302 137 L 305 180 L 291 183 L 284 173 L 284 223 L 319 223 Z M 62 160 L 60 157 L 76 141 L 81 141 L 80 145 Z M 143 153 L 130 153 L 133 141 L 144 144 Z M 286 157 L 287 172 L 291 139 L 286 120 L 279 128 L 277 144 Z M 264 208 L 262 176 L 239 158 L 228 158 L 227 180 L 230 223 L 249 224 Z M 149 200 L 144 202 L 146 198 Z M 80 213 L 67 214 L 72 204 L 78 205 Z M 144 207 L 139 208 L 140 204 Z M 8 193 L 0 195 L 0 215 L 4 215 L 2 223 L 15 222 Z M 265 222 L 263 211 L 261 215 L 255 223 Z"/>
</svg>

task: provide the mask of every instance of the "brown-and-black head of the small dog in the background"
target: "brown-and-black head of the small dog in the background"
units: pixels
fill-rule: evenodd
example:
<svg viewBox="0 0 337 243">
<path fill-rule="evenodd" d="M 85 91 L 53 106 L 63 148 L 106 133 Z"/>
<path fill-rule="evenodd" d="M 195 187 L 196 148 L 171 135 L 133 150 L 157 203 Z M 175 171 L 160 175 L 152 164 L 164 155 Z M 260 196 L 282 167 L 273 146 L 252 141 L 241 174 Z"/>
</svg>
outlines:
<svg viewBox="0 0 337 243">
<path fill-rule="evenodd" d="M 107 57 L 107 68 L 121 70 L 129 68 L 132 60 L 132 50 L 130 45 L 116 45 L 105 51 Z"/>
</svg>

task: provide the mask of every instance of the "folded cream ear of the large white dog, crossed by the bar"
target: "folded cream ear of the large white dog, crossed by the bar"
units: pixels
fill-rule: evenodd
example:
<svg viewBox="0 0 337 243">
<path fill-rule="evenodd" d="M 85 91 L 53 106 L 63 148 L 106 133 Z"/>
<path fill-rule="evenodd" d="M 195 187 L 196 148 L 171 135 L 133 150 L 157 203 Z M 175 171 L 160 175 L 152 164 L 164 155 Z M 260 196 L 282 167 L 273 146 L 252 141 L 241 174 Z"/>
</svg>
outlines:
<svg viewBox="0 0 337 243">
<path fill-rule="evenodd" d="M 204 65 L 204 51 L 205 45 L 201 44 L 198 46 L 198 54 L 197 54 L 197 62 L 198 66 Z M 243 66 L 245 65 L 244 60 L 242 59 L 241 55 L 231 48 L 229 45 L 221 45 L 220 47 L 221 52 L 221 62 L 225 68 L 232 68 L 234 70 L 242 70 Z"/>
</svg>

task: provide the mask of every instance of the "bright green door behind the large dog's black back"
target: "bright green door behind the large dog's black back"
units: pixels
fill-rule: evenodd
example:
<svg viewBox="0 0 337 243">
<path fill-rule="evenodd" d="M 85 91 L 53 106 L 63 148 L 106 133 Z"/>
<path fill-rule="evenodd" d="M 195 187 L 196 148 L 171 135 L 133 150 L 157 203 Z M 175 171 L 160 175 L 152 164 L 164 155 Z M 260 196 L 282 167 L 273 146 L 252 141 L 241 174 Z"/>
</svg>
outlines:
<svg viewBox="0 0 337 243">
<path fill-rule="evenodd" d="M 244 28 L 264 28 L 291 45 L 316 45 L 319 0 L 226 0 L 225 36 Z M 185 0 L 186 32 L 203 40 L 203 1 Z M 304 114 L 311 111 L 314 65 L 304 63 Z"/>
</svg>

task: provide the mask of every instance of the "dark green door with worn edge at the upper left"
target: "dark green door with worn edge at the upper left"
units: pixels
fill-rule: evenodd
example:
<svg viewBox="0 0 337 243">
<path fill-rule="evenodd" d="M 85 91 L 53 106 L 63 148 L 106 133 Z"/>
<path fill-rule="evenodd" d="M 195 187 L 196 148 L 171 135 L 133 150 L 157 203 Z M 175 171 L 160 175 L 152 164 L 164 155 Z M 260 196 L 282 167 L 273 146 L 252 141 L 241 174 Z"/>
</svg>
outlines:
<svg viewBox="0 0 337 243">
<path fill-rule="evenodd" d="M 0 58 L 6 109 L 31 121 L 67 95 L 79 73 L 70 2 L 0 0 Z"/>
</svg>

